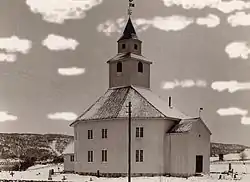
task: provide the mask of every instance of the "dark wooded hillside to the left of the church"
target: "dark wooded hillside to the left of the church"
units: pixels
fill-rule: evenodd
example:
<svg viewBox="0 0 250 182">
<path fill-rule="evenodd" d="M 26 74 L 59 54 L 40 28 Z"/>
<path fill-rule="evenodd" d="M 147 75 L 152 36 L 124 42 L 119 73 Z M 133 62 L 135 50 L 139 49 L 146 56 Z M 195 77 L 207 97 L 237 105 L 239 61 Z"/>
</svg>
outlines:
<svg viewBox="0 0 250 182">
<path fill-rule="evenodd" d="M 54 159 L 71 141 L 72 136 L 61 134 L 0 133 L 0 158 Z"/>
</svg>

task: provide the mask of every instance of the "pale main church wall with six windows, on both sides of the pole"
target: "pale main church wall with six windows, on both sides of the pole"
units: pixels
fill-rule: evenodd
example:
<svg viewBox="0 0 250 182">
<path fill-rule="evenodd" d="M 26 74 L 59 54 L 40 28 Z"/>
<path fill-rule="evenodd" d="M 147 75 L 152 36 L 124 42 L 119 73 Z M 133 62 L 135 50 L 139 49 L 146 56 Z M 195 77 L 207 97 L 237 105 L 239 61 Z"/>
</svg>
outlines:
<svg viewBox="0 0 250 182">
<path fill-rule="evenodd" d="M 132 173 L 164 173 L 164 135 L 173 122 L 164 120 L 132 120 Z M 144 128 L 143 138 L 136 138 L 136 127 Z M 108 129 L 108 138 L 101 138 L 101 130 Z M 79 173 L 127 173 L 128 121 L 91 121 L 75 126 L 77 132 L 75 171 Z M 87 131 L 93 129 L 93 139 Z M 101 151 L 107 149 L 108 161 L 101 161 Z M 136 162 L 136 150 L 143 150 L 143 162 Z M 94 161 L 88 163 L 87 151 L 94 151 Z"/>
</svg>

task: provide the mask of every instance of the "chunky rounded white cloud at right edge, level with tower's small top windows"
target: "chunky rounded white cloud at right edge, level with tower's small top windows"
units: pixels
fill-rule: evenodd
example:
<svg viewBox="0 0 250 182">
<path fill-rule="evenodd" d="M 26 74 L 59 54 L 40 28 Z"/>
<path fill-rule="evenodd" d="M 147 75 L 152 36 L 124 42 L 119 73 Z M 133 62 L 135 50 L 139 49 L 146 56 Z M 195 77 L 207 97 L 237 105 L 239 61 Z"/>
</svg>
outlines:
<svg viewBox="0 0 250 182">
<path fill-rule="evenodd" d="M 230 58 L 248 59 L 250 55 L 250 46 L 247 42 L 232 42 L 225 48 Z"/>
</svg>

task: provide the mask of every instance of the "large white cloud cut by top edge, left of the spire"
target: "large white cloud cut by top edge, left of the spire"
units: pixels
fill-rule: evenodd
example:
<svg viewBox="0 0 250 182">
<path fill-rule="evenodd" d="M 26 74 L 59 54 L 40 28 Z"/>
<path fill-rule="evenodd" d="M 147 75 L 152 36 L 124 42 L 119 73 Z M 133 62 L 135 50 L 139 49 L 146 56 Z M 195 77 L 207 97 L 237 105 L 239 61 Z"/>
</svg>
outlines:
<svg viewBox="0 0 250 182">
<path fill-rule="evenodd" d="M 26 0 L 33 13 L 40 13 L 45 21 L 58 24 L 84 18 L 86 11 L 101 3 L 102 0 Z"/>
</svg>

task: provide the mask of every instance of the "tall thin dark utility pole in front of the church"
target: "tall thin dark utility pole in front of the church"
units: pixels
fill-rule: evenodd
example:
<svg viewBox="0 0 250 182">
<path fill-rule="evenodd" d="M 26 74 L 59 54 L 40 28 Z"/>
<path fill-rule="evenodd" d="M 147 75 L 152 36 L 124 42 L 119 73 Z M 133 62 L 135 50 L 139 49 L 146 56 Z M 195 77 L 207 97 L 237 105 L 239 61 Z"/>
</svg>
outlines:
<svg viewBox="0 0 250 182">
<path fill-rule="evenodd" d="M 131 182 L 131 102 L 128 103 L 128 182 Z"/>
</svg>

